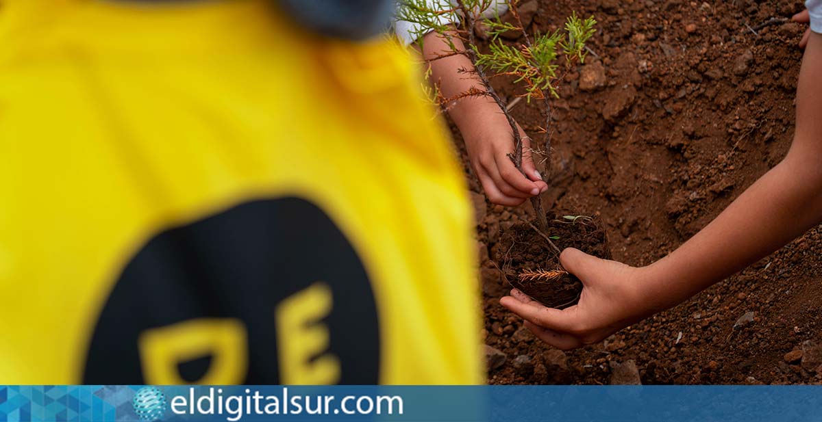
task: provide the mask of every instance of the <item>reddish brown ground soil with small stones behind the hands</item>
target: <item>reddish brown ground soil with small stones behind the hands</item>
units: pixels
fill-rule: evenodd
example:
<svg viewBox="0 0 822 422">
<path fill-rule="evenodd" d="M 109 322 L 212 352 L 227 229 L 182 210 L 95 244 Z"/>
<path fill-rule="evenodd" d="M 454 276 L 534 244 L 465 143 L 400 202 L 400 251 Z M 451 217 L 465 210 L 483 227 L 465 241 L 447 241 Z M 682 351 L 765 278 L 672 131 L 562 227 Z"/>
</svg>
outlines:
<svg viewBox="0 0 822 422">
<path fill-rule="evenodd" d="M 802 8 L 798 0 L 541 0 L 531 30 L 555 29 L 571 11 L 599 21 L 589 44 L 599 57 L 570 71 L 553 102 L 547 209 L 598 216 L 614 259 L 631 265 L 653 262 L 699 231 L 791 144 L 804 28 L 785 23 L 754 34 L 746 25 Z M 581 90 L 599 66 L 603 86 Z M 505 80 L 495 85 L 509 99 L 516 94 Z M 523 101 L 513 111 L 533 135 L 538 110 Z M 483 334 L 506 355 L 489 383 L 608 383 L 612 362 L 627 360 L 643 383 L 820 383 L 796 360 L 802 342 L 822 338 L 819 227 L 672 310 L 562 353 L 499 305 L 507 289 L 489 259 L 501 229 L 528 220 L 530 205 L 487 204 L 473 175 L 469 181 Z M 749 312 L 753 320 L 733 328 Z"/>
</svg>

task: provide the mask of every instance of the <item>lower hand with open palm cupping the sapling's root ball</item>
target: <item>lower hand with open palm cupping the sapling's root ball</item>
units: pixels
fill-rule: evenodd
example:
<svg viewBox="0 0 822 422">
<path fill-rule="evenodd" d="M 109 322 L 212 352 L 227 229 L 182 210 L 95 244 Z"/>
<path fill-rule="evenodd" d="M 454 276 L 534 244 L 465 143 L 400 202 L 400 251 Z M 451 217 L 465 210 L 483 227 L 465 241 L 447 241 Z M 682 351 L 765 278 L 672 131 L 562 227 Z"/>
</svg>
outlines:
<svg viewBox="0 0 822 422">
<path fill-rule="evenodd" d="M 653 313 L 638 288 L 641 268 L 598 259 L 572 248 L 562 251 L 562 266 L 580 278 L 580 303 L 565 310 L 547 308 L 517 289 L 500 303 L 525 319 L 525 327 L 562 350 L 600 342 Z"/>
</svg>

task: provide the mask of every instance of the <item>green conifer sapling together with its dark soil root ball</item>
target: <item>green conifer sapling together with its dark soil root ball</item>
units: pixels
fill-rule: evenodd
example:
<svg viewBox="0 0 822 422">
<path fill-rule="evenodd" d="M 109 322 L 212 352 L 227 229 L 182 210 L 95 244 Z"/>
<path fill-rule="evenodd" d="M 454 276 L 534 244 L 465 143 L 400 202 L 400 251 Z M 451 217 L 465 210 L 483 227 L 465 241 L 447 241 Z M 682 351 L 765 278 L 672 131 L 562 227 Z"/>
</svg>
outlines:
<svg viewBox="0 0 822 422">
<path fill-rule="evenodd" d="M 515 167 L 523 173 L 523 137 L 520 136 L 519 128 L 511 116 L 510 107 L 506 101 L 493 89 L 490 80 L 500 76 L 508 76 L 513 80 L 514 85 L 520 88 L 521 94 L 517 98 L 524 99 L 525 103 L 538 107 L 542 116 L 543 126 L 538 127 L 538 133 L 542 134 L 542 140 L 533 143 L 530 152 L 542 157 L 545 163 L 545 174 L 551 174 L 551 101 L 560 97 L 558 81 L 562 80 L 566 73 L 572 70 L 577 63 L 584 63 L 589 49 L 585 44 L 595 33 L 594 25 L 596 21 L 593 16 L 581 19 L 576 13 L 572 13 L 565 25 L 558 30 L 546 33 L 536 32 L 529 34 L 526 25 L 521 19 L 517 10 L 519 0 L 507 0 L 510 19 L 503 20 L 501 16 L 483 17 L 483 11 L 496 5 L 494 0 L 439 0 L 439 7 L 429 0 L 401 0 L 399 8 L 399 19 L 408 21 L 416 25 L 416 29 L 410 35 L 417 39 L 420 49 L 423 49 L 424 36 L 429 32 L 435 32 L 442 39 L 446 40 L 444 51 L 434 54 L 427 54 L 428 61 L 436 61 L 445 57 L 463 55 L 468 57 L 473 63 L 473 70 L 460 69 L 464 74 L 472 74 L 481 82 L 482 87 L 472 87 L 464 92 L 450 95 L 441 94 L 437 86 L 437 81 L 430 81 L 427 85 L 427 94 L 432 101 L 438 103 L 442 110 L 448 110 L 462 99 L 488 97 L 493 99 L 499 107 L 500 112 L 506 117 L 511 130 L 512 139 L 511 152 L 508 154 Z M 433 2 L 436 3 L 436 2 Z M 445 19 L 444 19 L 445 18 Z M 450 23 L 455 22 L 455 23 Z M 487 35 L 487 48 L 480 48 L 475 29 L 477 25 L 482 25 L 482 31 Z M 504 33 L 520 33 L 520 42 L 510 43 L 501 39 Z M 461 43 L 455 43 L 459 39 Z M 464 45 L 458 48 L 457 45 Z M 428 67 L 428 75 L 430 75 Z M 430 79 L 430 78 L 429 78 Z M 533 141 L 532 141 L 533 142 Z M 527 175 L 525 175 L 527 177 Z M 529 237 L 528 232 L 537 233 L 554 252 L 552 259 L 558 258 L 560 248 L 555 241 L 560 241 L 561 237 L 549 236 L 553 228 L 562 232 L 562 241 L 565 245 L 584 247 L 586 243 L 591 245 L 589 249 L 596 255 L 607 258 L 610 250 L 607 250 L 607 239 L 604 232 L 596 222 L 589 223 L 590 218 L 584 216 L 565 216 L 561 220 L 548 222 L 546 213 L 543 211 L 541 198 L 535 195 L 531 198 L 534 213 L 536 214 L 537 225 L 527 222 L 526 225 L 515 225 L 503 233 L 500 240 L 501 245 L 506 248 L 501 252 L 500 262 L 505 277 L 506 262 L 513 259 L 520 268 L 514 279 L 509 282 L 520 290 L 525 291 L 529 296 L 543 301 L 546 305 L 564 307 L 575 302 L 579 298 L 581 283 L 579 279 L 567 273 L 564 269 L 543 269 L 539 265 L 546 261 L 544 255 L 538 253 L 533 255 L 533 248 L 529 248 L 534 242 L 533 237 Z M 560 228 L 562 223 L 571 223 L 569 227 L 577 227 L 574 232 L 568 228 Z M 581 222 L 576 225 L 573 223 Z M 557 224 L 559 226 L 557 226 Z M 530 228 L 529 228 L 530 227 Z M 510 246 L 507 246 L 510 245 Z M 512 256 L 509 257 L 509 254 Z M 513 257 L 516 255 L 516 257 Z M 529 269 L 537 268 L 537 269 Z M 507 279 L 507 278 L 506 278 Z"/>
</svg>

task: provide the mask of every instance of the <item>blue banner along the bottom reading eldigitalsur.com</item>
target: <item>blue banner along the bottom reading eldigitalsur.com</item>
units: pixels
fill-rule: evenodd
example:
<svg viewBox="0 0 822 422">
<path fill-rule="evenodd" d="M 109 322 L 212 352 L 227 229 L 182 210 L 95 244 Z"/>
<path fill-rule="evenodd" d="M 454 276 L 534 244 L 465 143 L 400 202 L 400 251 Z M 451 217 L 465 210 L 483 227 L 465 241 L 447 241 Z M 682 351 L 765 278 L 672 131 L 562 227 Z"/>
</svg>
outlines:
<svg viewBox="0 0 822 422">
<path fill-rule="evenodd" d="M 817 421 L 815 386 L 2 386 L 0 421 Z"/>
</svg>

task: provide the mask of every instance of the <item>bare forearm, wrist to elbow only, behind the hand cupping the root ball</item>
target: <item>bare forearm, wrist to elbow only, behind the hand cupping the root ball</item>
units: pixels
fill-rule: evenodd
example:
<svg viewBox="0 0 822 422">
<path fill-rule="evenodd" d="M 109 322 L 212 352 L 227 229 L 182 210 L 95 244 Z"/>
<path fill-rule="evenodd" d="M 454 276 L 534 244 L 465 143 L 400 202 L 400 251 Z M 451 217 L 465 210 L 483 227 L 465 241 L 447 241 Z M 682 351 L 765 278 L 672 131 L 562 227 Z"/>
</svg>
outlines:
<svg viewBox="0 0 822 422">
<path fill-rule="evenodd" d="M 786 159 L 679 249 L 643 268 L 653 310 L 677 305 L 819 224 L 819 173 Z"/>
</svg>

